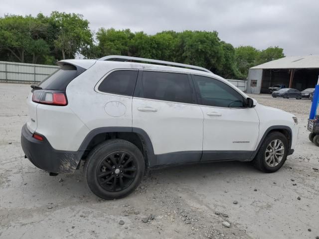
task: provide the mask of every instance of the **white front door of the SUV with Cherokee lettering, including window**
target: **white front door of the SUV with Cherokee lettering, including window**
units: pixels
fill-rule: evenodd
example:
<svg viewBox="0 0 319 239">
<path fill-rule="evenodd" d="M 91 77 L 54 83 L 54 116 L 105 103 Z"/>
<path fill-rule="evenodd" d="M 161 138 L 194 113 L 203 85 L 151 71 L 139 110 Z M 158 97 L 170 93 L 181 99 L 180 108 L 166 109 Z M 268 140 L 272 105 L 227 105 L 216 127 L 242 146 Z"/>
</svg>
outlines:
<svg viewBox="0 0 319 239">
<path fill-rule="evenodd" d="M 202 161 L 249 159 L 259 136 L 254 108 L 245 108 L 244 96 L 227 83 L 193 75 L 204 114 Z"/>
</svg>

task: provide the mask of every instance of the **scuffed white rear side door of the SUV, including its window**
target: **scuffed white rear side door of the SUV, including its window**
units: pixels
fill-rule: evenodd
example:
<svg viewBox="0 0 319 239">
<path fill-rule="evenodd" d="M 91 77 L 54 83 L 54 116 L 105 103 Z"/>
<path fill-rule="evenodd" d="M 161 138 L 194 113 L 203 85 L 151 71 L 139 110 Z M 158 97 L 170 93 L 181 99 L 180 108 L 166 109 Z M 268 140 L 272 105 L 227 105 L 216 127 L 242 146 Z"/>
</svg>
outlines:
<svg viewBox="0 0 319 239">
<path fill-rule="evenodd" d="M 154 164 L 199 161 L 203 114 L 194 105 L 190 76 L 158 71 L 140 73 L 133 97 L 133 127 L 149 135 L 157 158 Z"/>
</svg>

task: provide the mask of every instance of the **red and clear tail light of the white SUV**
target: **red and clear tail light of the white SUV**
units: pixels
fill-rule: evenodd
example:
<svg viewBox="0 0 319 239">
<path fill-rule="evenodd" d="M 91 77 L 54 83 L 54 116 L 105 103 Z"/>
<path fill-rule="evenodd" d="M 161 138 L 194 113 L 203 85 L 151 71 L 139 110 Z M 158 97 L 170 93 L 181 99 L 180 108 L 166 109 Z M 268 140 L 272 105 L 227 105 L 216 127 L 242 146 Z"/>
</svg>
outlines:
<svg viewBox="0 0 319 239">
<path fill-rule="evenodd" d="M 35 90 L 32 101 L 53 106 L 66 106 L 68 104 L 65 93 L 61 91 Z"/>
</svg>

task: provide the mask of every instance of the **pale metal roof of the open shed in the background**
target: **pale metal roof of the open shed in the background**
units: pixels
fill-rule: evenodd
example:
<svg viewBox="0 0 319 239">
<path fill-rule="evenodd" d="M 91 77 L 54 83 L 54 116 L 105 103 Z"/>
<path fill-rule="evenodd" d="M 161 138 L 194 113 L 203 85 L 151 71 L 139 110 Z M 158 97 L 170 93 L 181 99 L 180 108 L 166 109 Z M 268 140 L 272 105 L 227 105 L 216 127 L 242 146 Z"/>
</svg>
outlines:
<svg viewBox="0 0 319 239">
<path fill-rule="evenodd" d="M 269 61 L 250 69 L 297 69 L 319 68 L 319 55 L 287 56 L 278 60 Z"/>
</svg>

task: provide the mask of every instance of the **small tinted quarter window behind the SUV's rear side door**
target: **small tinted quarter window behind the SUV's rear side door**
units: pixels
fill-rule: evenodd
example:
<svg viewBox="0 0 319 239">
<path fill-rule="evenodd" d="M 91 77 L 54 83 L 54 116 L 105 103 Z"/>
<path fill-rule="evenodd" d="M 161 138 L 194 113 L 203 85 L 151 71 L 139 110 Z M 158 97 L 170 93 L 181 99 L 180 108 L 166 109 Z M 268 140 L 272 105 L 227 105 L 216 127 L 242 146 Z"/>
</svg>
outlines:
<svg viewBox="0 0 319 239">
<path fill-rule="evenodd" d="M 120 70 L 110 73 L 99 85 L 99 91 L 133 96 L 138 71 Z"/>
</svg>

